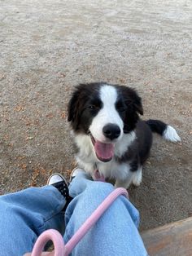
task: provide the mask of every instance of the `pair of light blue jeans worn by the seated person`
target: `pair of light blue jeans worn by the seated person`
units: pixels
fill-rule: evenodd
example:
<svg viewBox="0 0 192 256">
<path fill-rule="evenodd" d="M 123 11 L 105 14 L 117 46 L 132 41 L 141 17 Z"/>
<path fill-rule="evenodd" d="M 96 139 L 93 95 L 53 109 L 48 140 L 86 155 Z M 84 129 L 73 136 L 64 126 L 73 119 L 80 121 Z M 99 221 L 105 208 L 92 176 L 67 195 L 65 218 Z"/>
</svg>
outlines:
<svg viewBox="0 0 192 256">
<path fill-rule="evenodd" d="M 0 256 L 21 256 L 32 251 L 37 236 L 48 228 L 59 230 L 67 242 L 113 189 L 110 183 L 91 181 L 85 174 L 78 174 L 69 187 L 74 199 L 65 216 L 61 211 L 65 200 L 53 186 L 0 196 Z M 76 245 L 72 255 L 147 255 L 138 223 L 138 211 L 120 196 Z"/>
</svg>

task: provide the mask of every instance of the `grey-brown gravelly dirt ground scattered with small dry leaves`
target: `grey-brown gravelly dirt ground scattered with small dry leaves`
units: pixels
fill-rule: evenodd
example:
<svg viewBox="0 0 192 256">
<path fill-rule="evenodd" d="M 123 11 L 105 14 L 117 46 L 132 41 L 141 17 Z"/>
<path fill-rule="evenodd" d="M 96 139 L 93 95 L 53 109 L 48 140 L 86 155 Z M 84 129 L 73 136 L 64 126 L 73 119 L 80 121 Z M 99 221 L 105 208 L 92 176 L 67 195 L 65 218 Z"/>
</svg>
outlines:
<svg viewBox="0 0 192 256">
<path fill-rule="evenodd" d="M 192 214 L 192 2 L 0 0 L 0 190 L 41 186 L 74 165 L 66 106 L 79 82 L 133 86 L 155 136 L 129 196 L 141 229 Z"/>
</svg>

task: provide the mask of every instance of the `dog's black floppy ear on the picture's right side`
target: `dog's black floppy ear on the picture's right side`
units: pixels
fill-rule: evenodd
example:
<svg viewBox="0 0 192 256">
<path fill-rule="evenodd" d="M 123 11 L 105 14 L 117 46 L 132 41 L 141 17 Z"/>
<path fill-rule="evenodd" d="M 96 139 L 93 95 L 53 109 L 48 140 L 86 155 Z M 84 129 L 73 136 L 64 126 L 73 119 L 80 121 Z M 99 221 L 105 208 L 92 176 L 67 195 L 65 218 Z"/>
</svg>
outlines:
<svg viewBox="0 0 192 256">
<path fill-rule="evenodd" d="M 140 115 L 143 115 L 142 98 L 139 97 L 137 91 L 126 86 L 120 87 L 121 93 L 125 97 L 125 104 L 128 107 L 134 108 Z"/>
</svg>

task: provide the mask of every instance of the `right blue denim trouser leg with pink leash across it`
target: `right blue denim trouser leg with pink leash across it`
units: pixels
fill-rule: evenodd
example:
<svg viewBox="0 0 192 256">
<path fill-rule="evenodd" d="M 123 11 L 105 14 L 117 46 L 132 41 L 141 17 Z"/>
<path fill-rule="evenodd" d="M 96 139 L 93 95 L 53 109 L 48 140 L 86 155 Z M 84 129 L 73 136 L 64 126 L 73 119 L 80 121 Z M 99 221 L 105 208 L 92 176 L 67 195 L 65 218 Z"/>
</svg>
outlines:
<svg viewBox="0 0 192 256">
<path fill-rule="evenodd" d="M 69 186 L 69 193 L 75 198 L 65 215 L 65 242 L 113 189 L 110 183 L 88 180 L 82 172 L 76 175 Z M 76 245 L 72 255 L 147 255 L 137 231 L 138 223 L 138 211 L 124 196 L 120 196 Z"/>
</svg>

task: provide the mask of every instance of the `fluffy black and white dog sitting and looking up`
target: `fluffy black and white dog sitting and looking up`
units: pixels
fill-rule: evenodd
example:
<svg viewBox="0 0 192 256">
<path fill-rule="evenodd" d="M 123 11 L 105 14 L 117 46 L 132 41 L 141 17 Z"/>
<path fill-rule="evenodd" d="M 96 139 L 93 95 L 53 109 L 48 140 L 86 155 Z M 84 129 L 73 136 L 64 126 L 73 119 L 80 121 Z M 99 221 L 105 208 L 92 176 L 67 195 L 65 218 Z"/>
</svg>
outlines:
<svg viewBox="0 0 192 256">
<path fill-rule="evenodd" d="M 136 90 L 104 82 L 76 86 L 68 104 L 68 121 L 77 147 L 76 161 L 86 172 L 116 179 L 116 187 L 142 182 L 152 131 L 172 142 L 177 131 L 162 121 L 142 121 Z"/>
</svg>

